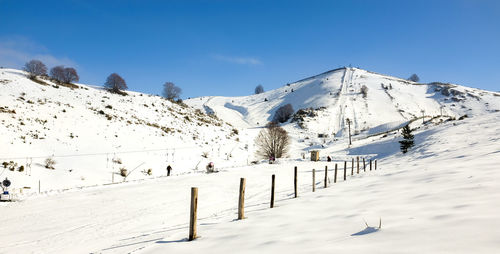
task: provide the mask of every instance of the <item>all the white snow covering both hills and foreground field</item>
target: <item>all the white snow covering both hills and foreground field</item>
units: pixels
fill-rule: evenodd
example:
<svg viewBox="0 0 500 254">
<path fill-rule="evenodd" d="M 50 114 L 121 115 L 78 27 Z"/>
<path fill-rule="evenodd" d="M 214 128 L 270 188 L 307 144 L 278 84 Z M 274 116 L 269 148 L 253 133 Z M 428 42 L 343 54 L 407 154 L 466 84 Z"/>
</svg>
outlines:
<svg viewBox="0 0 500 254">
<path fill-rule="evenodd" d="M 233 127 L 155 96 L 134 92 L 121 96 L 83 84 L 77 84 L 78 89 L 55 88 L 45 82 L 49 85 L 26 79 L 22 71 L 0 69 L 0 162 L 26 165 L 32 160 L 31 168 L 23 172 L 0 168 L 0 178 L 12 180 L 10 191 L 17 199 L 0 203 L 0 253 L 495 253 L 500 249 L 498 93 L 457 85 L 417 85 L 347 68 L 259 95 L 187 102 L 215 112 Z M 380 83 L 390 83 L 392 89 L 383 89 Z M 367 98 L 359 94 L 362 85 L 368 87 Z M 290 122 L 284 125 L 292 138 L 288 158 L 276 164 L 249 164 L 256 160 L 253 138 L 277 107 L 287 103 L 296 110 L 325 108 L 306 119 L 305 129 Z M 422 109 L 425 123 L 418 119 Z M 449 120 L 465 114 L 463 120 Z M 353 120 L 353 132 L 359 133 L 351 146 L 346 118 Z M 415 128 L 416 145 L 401 154 L 401 136 L 394 130 L 407 123 Z M 319 133 L 335 137 L 318 138 Z M 321 150 L 322 161 L 308 160 L 305 154 L 311 149 Z M 204 152 L 208 158 L 202 157 Z M 43 161 L 52 154 L 57 164 L 46 169 Z M 334 161 L 325 162 L 326 155 Z M 361 164 L 357 174 L 354 165 L 351 175 L 351 160 L 357 156 L 366 159 L 366 170 Z M 112 163 L 113 158 L 123 163 Z M 377 170 L 370 171 L 370 160 L 377 160 Z M 215 161 L 218 173 L 203 173 L 208 161 Z M 168 164 L 174 171 L 166 177 Z M 119 167 L 131 170 L 137 165 L 125 182 L 116 174 Z M 293 194 L 294 166 L 298 198 Z M 323 188 L 325 166 L 328 188 Z M 148 168 L 153 169 L 152 176 L 141 173 Z M 119 183 L 110 184 L 112 173 Z M 276 203 L 271 209 L 272 174 Z M 247 218 L 235 220 L 242 177 Z M 199 188 L 200 238 L 189 242 L 191 187 Z"/>
</svg>

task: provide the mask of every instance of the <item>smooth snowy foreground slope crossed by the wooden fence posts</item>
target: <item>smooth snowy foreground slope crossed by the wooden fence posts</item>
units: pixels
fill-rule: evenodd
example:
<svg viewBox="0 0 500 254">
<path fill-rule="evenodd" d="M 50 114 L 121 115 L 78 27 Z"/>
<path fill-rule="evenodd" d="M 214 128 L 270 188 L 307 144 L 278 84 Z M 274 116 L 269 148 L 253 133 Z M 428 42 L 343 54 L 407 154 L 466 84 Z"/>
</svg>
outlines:
<svg viewBox="0 0 500 254">
<path fill-rule="evenodd" d="M 341 170 L 337 183 L 333 168 L 338 163 L 342 169 L 341 160 L 283 160 L 0 203 L 0 252 L 496 253 L 499 122 L 500 113 L 492 113 L 425 126 L 415 132 L 416 146 L 405 155 L 397 152 L 393 137 L 360 140 L 348 150 L 375 153 L 378 169 L 354 176 L 348 171 L 346 181 Z M 344 149 L 331 153 L 345 154 Z M 276 203 L 270 209 L 272 174 Z M 236 221 L 240 177 L 247 180 L 247 219 Z M 188 242 L 193 186 L 199 188 L 201 238 Z"/>
</svg>

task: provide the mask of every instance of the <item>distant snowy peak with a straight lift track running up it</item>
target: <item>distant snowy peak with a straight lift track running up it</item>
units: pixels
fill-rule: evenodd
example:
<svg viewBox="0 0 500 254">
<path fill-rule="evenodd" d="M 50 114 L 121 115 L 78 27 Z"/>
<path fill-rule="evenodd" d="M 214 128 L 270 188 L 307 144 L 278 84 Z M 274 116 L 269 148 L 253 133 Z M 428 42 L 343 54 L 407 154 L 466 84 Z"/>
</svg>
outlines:
<svg viewBox="0 0 500 254">
<path fill-rule="evenodd" d="M 367 96 L 361 93 L 366 86 Z M 500 93 L 453 84 L 418 84 L 357 68 L 340 68 L 262 94 L 243 97 L 202 97 L 187 100 L 206 112 L 240 127 L 263 126 L 276 110 L 291 104 L 295 111 L 313 108 L 317 116 L 301 126 L 308 133 L 346 136 L 346 120 L 353 133 L 386 131 L 425 116 L 481 115 L 500 110 Z M 295 123 L 292 123 L 296 127 Z"/>
</svg>

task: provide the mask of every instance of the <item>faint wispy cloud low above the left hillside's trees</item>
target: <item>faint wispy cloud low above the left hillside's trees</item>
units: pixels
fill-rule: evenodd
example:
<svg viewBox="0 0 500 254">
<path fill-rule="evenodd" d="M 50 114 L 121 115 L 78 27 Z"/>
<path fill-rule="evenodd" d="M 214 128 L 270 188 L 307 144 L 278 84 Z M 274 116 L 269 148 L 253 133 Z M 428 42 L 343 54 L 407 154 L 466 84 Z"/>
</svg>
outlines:
<svg viewBox="0 0 500 254">
<path fill-rule="evenodd" d="M 26 37 L 0 37 L 0 66 L 20 69 L 31 59 L 38 59 L 49 68 L 56 65 L 78 67 L 73 60 L 54 56 L 43 45 Z"/>
</svg>

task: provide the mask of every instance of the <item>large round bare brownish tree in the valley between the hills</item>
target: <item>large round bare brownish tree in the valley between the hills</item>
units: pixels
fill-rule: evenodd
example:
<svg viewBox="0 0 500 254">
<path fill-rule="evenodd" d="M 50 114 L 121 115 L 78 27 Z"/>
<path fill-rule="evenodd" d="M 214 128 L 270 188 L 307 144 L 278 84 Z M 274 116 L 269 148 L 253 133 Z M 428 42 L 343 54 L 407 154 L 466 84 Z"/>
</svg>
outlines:
<svg viewBox="0 0 500 254">
<path fill-rule="evenodd" d="M 277 123 L 270 122 L 255 138 L 255 144 L 258 147 L 257 156 L 264 159 L 281 158 L 288 151 L 290 137 L 285 129 L 279 127 Z"/>
</svg>

